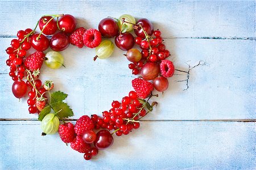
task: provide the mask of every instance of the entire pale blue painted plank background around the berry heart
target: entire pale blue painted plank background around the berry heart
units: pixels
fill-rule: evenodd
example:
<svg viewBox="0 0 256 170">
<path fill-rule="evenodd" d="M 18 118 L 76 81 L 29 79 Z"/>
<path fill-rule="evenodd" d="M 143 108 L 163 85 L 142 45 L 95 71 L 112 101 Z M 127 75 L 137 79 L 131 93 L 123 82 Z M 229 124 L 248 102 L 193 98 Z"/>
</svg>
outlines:
<svg viewBox="0 0 256 170">
<path fill-rule="evenodd" d="M 255 1 L 0 1 L 0 169 L 255 169 Z M 189 89 L 170 88 L 141 128 L 114 137 L 91 161 L 59 136 L 40 135 L 26 99 L 11 92 L 5 49 L 19 29 L 34 28 L 46 14 L 72 14 L 78 27 L 97 28 L 107 16 L 131 14 L 159 28 L 177 69 L 203 59 Z M 135 77 L 121 50 L 93 62 L 94 49 L 70 45 L 59 70 L 42 80 L 69 94 L 75 116 L 100 114 L 132 89 Z"/>
</svg>

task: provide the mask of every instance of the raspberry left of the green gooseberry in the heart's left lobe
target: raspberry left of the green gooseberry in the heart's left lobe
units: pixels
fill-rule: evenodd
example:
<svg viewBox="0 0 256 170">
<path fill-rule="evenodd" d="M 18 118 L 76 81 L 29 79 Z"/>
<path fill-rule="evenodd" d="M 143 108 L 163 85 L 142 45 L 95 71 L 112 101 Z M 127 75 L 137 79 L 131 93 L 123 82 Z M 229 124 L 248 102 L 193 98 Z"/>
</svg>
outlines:
<svg viewBox="0 0 256 170">
<path fill-rule="evenodd" d="M 43 65 L 44 56 L 46 55 L 43 52 L 35 52 L 26 58 L 24 65 L 31 71 L 40 70 Z"/>
</svg>

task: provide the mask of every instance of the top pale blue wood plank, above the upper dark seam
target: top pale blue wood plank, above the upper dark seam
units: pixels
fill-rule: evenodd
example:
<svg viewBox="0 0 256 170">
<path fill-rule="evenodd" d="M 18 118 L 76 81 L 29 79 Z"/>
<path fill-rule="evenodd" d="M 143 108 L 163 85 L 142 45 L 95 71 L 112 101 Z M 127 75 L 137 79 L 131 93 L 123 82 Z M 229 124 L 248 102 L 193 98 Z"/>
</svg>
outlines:
<svg viewBox="0 0 256 170">
<path fill-rule="evenodd" d="M 129 13 L 150 19 L 164 37 L 255 37 L 254 1 L 1 1 L 0 6 L 1 36 L 34 27 L 42 15 L 65 12 L 86 28 Z"/>
</svg>

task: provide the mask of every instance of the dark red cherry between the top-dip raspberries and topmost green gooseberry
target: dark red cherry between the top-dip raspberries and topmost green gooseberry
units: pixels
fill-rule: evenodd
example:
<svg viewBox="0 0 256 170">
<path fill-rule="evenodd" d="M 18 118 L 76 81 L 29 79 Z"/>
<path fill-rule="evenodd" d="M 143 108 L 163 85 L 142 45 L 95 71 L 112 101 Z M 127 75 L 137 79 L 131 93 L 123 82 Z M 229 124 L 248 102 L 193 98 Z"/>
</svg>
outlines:
<svg viewBox="0 0 256 170">
<path fill-rule="evenodd" d="M 104 18 L 98 24 L 98 31 L 103 37 L 110 38 L 117 36 L 119 27 L 113 18 Z"/>
</svg>

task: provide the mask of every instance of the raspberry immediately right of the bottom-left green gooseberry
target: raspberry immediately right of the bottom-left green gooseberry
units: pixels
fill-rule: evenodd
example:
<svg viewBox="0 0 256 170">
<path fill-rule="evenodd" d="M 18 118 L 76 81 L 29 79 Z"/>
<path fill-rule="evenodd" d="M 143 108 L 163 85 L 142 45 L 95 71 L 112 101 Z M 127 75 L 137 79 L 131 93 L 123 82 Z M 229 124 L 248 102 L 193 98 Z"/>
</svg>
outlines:
<svg viewBox="0 0 256 170">
<path fill-rule="evenodd" d="M 59 135 L 63 142 L 70 143 L 75 140 L 74 125 L 67 123 L 59 126 Z"/>
</svg>

